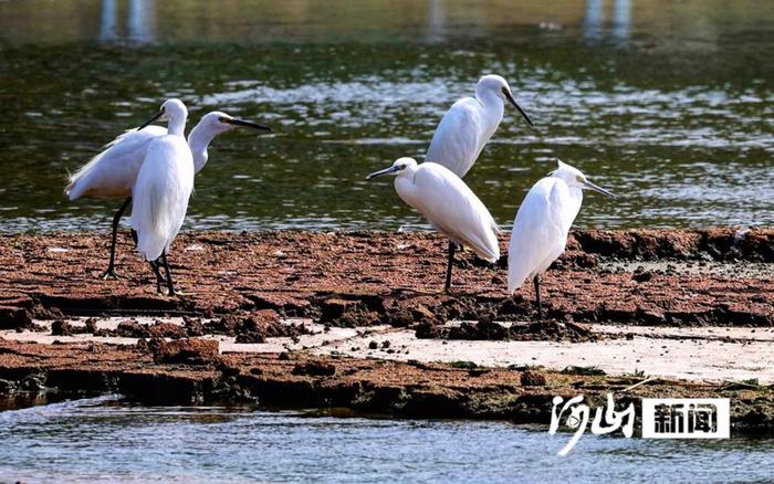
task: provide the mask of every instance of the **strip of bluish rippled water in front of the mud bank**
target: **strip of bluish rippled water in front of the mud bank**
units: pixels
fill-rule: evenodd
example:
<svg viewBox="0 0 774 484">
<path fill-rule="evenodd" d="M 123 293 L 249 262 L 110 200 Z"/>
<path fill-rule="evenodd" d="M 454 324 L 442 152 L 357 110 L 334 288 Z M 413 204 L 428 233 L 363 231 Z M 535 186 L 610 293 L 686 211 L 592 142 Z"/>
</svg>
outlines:
<svg viewBox="0 0 774 484">
<path fill-rule="evenodd" d="M 652 441 L 504 422 L 320 418 L 117 397 L 0 412 L 0 482 L 765 482 L 774 440 Z"/>
</svg>

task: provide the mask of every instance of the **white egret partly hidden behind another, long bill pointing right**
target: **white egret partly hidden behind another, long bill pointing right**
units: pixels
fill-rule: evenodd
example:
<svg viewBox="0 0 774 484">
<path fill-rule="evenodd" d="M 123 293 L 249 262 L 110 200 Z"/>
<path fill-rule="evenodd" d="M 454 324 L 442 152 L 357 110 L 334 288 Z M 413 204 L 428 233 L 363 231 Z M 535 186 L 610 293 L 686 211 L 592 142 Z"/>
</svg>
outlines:
<svg viewBox="0 0 774 484">
<path fill-rule="evenodd" d="M 213 111 L 202 116 L 188 135 L 188 146 L 194 155 L 194 169 L 198 173 L 207 165 L 207 148 L 212 139 L 230 129 L 249 127 L 270 131 L 268 126 L 238 119 L 226 113 Z M 106 146 L 106 149 L 92 158 L 70 177 L 64 192 L 70 200 L 84 194 L 96 197 L 124 197 L 118 211 L 113 217 L 111 260 L 102 277 L 117 278 L 115 272 L 115 250 L 118 222 L 132 202 L 132 187 L 137 180 L 139 167 L 150 141 L 167 134 L 163 126 L 147 126 L 144 129 L 129 129 Z"/>
</svg>

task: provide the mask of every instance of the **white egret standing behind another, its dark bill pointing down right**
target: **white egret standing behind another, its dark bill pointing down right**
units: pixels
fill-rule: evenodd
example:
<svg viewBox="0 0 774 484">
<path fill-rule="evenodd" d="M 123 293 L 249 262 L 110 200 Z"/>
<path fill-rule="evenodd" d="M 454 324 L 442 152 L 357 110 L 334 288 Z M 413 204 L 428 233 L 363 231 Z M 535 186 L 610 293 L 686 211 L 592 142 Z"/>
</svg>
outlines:
<svg viewBox="0 0 774 484">
<path fill-rule="evenodd" d="M 500 126 L 506 99 L 534 126 L 508 82 L 499 75 L 485 75 L 475 85 L 475 97 L 461 98 L 443 115 L 425 160 L 443 165 L 463 178 Z"/>
</svg>

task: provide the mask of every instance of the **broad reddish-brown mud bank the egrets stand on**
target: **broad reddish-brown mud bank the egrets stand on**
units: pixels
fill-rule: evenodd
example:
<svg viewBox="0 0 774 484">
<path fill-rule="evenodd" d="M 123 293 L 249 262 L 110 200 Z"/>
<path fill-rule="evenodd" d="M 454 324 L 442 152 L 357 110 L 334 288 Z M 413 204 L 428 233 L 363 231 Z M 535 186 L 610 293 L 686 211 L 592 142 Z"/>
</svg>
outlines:
<svg viewBox="0 0 774 484">
<path fill-rule="evenodd" d="M 253 325 L 269 334 L 266 320 L 302 317 L 491 339 L 520 336 L 491 332 L 490 322 L 535 316 L 530 284 L 505 292 L 508 238 L 498 264 L 458 255 L 451 295 L 441 292 L 446 241 L 433 234 L 184 234 L 170 255 L 184 293 L 177 297 L 155 293 L 126 234 L 117 253 L 123 278 L 100 280 L 107 242 L 106 234 L 0 236 L 0 328 L 30 327 L 33 318 L 164 314 L 226 316 L 236 318 L 226 326 L 244 326 L 263 312 Z M 772 326 L 773 269 L 774 229 L 575 231 L 543 277 L 544 304 L 557 322 Z M 432 329 L 450 319 L 483 325 Z M 584 336 L 561 326 L 537 337 Z"/>
</svg>

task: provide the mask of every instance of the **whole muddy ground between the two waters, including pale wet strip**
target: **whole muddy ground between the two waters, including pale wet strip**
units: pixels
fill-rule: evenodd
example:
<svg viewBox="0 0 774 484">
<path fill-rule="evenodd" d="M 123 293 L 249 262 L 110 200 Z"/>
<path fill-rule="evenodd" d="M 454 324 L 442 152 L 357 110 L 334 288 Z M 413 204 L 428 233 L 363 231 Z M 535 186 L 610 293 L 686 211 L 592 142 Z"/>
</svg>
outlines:
<svg viewBox="0 0 774 484">
<path fill-rule="evenodd" d="M 772 229 L 575 232 L 545 324 L 505 256 L 458 256 L 443 294 L 431 234 L 185 234 L 176 297 L 121 242 L 101 281 L 104 234 L 0 236 L 0 394 L 543 423 L 556 394 L 728 396 L 736 429 L 774 430 Z"/>
</svg>

